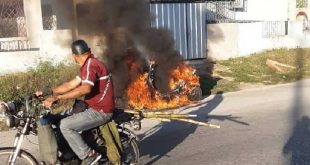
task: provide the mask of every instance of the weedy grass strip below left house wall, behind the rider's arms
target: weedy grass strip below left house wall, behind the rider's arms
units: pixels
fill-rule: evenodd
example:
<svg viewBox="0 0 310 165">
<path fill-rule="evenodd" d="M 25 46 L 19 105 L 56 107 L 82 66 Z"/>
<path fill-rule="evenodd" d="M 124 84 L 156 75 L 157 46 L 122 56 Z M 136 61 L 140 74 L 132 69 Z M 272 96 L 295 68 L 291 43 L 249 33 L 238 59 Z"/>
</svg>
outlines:
<svg viewBox="0 0 310 165">
<path fill-rule="evenodd" d="M 15 73 L 0 76 L 0 100 L 9 101 L 33 94 L 45 87 L 55 87 L 73 79 L 78 74 L 75 65 L 43 62 L 37 68 L 25 73 Z"/>
</svg>

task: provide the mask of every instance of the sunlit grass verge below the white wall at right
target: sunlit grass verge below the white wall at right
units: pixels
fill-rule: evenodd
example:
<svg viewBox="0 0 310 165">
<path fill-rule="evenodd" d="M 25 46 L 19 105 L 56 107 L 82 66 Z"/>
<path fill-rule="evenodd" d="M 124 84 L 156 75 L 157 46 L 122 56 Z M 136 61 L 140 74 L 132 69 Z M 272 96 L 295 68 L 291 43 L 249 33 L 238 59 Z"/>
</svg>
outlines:
<svg viewBox="0 0 310 165">
<path fill-rule="evenodd" d="M 266 65 L 267 59 L 293 66 L 295 69 L 277 72 Z M 225 69 L 217 70 L 216 65 Z M 216 65 L 214 74 L 222 79 L 216 82 L 214 88 L 211 88 L 212 93 L 236 91 L 241 88 L 242 84 L 289 83 L 310 77 L 310 49 L 270 50 L 247 57 L 217 61 Z M 201 79 L 203 79 L 201 80 L 202 89 L 211 87 L 205 83 L 208 78 L 201 77 Z"/>
</svg>

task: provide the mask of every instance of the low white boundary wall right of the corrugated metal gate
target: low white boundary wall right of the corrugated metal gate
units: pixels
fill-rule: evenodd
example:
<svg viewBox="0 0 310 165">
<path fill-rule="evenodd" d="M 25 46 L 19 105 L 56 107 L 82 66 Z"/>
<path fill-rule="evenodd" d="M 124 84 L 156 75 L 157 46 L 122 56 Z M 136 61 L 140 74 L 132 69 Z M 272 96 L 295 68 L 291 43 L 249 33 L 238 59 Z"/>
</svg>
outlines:
<svg viewBox="0 0 310 165">
<path fill-rule="evenodd" d="M 301 21 L 289 21 L 288 35 L 265 38 L 262 22 L 207 25 L 208 57 L 224 60 L 269 49 L 310 47 L 310 33 Z"/>
</svg>

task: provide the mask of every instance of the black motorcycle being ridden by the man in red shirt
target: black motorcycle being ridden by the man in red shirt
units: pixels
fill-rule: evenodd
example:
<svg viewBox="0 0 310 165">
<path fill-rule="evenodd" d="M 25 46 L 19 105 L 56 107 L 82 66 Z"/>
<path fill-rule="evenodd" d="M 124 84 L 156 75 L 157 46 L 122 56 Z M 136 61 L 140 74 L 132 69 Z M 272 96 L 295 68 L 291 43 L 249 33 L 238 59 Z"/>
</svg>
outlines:
<svg viewBox="0 0 310 165">
<path fill-rule="evenodd" d="M 27 135 L 38 135 L 37 121 L 50 113 L 49 109 L 43 107 L 43 99 L 35 96 L 19 98 L 14 101 L 4 103 L 2 107 L 6 109 L 6 124 L 8 127 L 15 127 L 17 132 L 12 147 L 0 148 L 0 161 L 7 165 L 39 165 L 45 164 L 38 161 L 32 154 L 22 149 L 22 143 Z M 141 119 L 126 113 L 123 110 L 117 110 L 113 115 L 113 121 L 116 123 L 121 144 L 123 147 L 122 164 L 137 164 L 139 162 L 138 137 L 127 128 L 128 125 L 140 126 Z M 139 129 L 140 127 L 134 127 Z M 56 134 L 56 128 L 54 131 Z M 85 141 L 90 144 L 97 152 L 106 155 L 106 143 L 101 135 L 99 127 L 82 132 Z M 87 137 L 87 138 L 86 138 Z M 80 160 L 71 150 L 62 150 L 65 147 L 58 148 L 59 164 L 79 164 Z M 71 153 L 68 153 L 71 152 Z M 70 155 L 64 157 L 63 155 Z M 98 164 L 109 162 L 107 157 L 102 157 Z M 1 164 L 2 164 L 1 163 Z"/>
</svg>

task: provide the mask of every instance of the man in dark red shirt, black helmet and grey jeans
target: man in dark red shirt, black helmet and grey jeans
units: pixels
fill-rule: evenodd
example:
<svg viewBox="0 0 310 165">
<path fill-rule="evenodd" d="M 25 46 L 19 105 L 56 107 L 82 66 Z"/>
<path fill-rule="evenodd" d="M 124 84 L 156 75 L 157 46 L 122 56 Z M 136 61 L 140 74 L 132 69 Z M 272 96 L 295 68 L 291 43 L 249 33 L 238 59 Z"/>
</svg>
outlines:
<svg viewBox="0 0 310 165">
<path fill-rule="evenodd" d="M 82 139 L 80 131 L 106 124 L 111 120 L 114 109 L 112 78 L 106 66 L 91 53 L 84 40 L 71 45 L 72 58 L 80 67 L 75 79 L 52 89 L 44 106 L 50 107 L 58 100 L 76 99 L 85 96 L 88 108 L 61 119 L 60 130 L 82 164 L 96 163 L 101 155 L 93 151 Z"/>
</svg>

